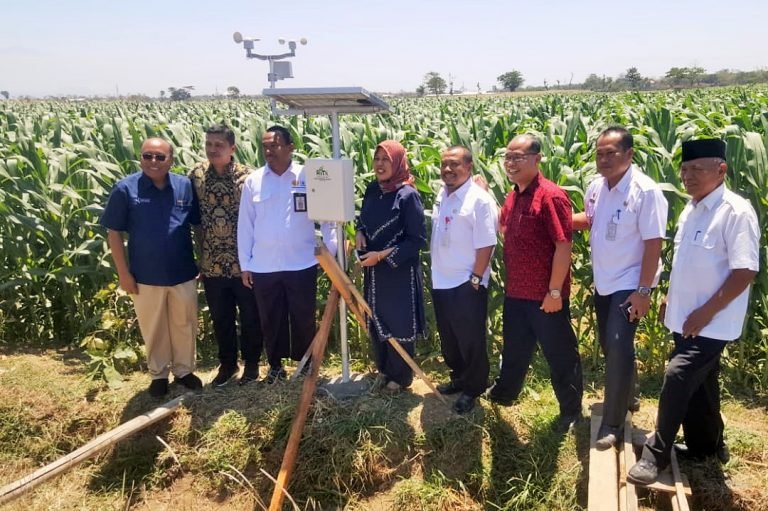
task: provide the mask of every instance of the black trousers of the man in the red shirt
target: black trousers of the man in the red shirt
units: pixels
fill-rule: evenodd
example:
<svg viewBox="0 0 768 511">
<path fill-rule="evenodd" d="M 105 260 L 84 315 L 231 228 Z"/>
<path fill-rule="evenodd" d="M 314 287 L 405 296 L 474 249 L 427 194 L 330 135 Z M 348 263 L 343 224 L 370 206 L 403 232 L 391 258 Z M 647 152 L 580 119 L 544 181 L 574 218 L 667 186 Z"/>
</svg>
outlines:
<svg viewBox="0 0 768 511">
<path fill-rule="evenodd" d="M 581 357 L 568 305 L 568 300 L 563 300 L 562 309 L 546 313 L 540 301 L 504 298 L 504 348 L 494 394 L 517 399 L 538 340 L 549 364 L 560 414 L 581 413 Z"/>
</svg>

